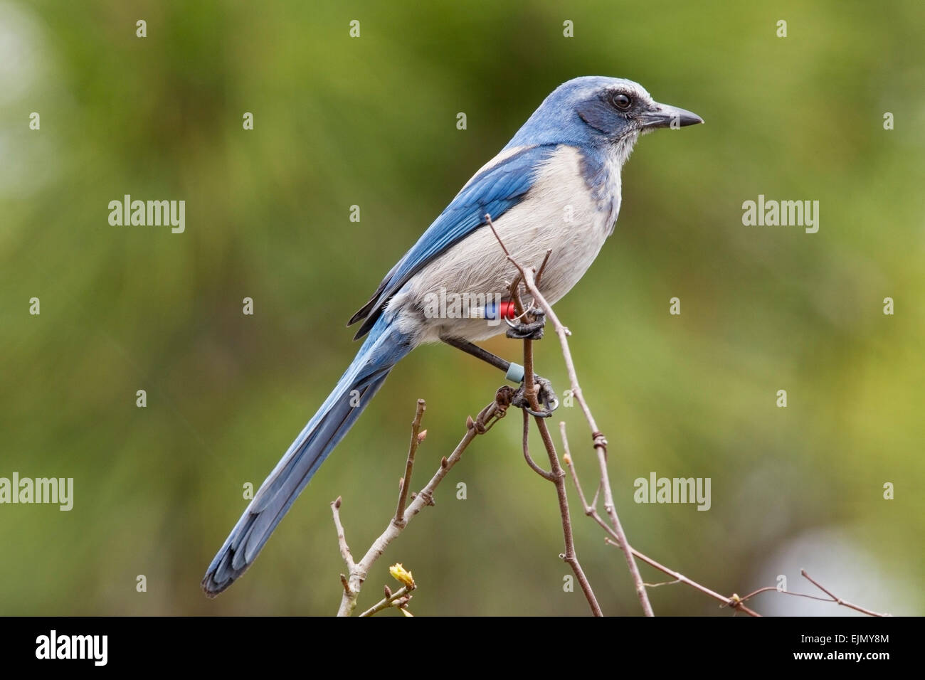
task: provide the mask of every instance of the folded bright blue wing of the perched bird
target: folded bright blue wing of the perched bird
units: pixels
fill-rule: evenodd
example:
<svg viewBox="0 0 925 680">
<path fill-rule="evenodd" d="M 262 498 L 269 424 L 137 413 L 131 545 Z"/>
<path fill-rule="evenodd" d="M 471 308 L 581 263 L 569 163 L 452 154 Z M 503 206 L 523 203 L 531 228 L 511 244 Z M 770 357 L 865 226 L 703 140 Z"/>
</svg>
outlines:
<svg viewBox="0 0 925 680">
<path fill-rule="evenodd" d="M 527 146 L 478 173 L 456 195 L 421 238 L 379 284 L 370 301 L 352 316 L 348 326 L 365 318 L 354 340 L 362 338 L 382 315 L 385 303 L 440 253 L 484 227 L 486 213 L 496 220 L 524 200 L 536 172 L 556 150 L 555 144 Z"/>
</svg>

